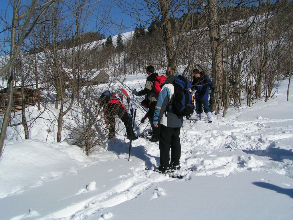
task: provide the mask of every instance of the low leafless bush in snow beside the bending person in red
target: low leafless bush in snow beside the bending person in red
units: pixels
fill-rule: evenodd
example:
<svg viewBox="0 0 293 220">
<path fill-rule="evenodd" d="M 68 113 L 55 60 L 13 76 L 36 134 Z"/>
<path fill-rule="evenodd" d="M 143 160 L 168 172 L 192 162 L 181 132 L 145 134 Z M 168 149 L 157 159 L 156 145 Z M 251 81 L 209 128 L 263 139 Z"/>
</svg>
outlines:
<svg viewBox="0 0 293 220">
<path fill-rule="evenodd" d="M 90 72 L 88 73 L 88 75 L 91 75 Z M 88 79 L 90 80 L 91 77 L 89 76 Z M 75 108 L 71 109 L 68 114 L 69 120 L 64 121 L 64 127 L 71 131 L 72 143 L 83 148 L 87 156 L 91 153 L 93 147 L 103 145 L 108 140 L 104 106 L 100 105 L 99 97 L 104 90 L 111 90 L 112 88 L 110 88 L 110 84 L 101 87 L 99 88 L 94 84 L 86 85 L 79 93 Z M 72 121 L 74 123 L 71 123 Z"/>
</svg>

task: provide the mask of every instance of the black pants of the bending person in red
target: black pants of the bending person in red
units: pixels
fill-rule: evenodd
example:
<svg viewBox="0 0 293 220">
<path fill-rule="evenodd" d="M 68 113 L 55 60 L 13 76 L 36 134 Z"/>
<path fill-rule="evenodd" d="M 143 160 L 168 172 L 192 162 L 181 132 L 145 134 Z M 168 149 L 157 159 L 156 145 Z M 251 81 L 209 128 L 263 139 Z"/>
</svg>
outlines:
<svg viewBox="0 0 293 220">
<path fill-rule="evenodd" d="M 109 139 L 115 137 L 115 116 L 118 116 L 121 121 L 124 123 L 126 128 L 126 133 L 128 136 L 131 135 L 132 132 L 132 124 L 127 114 L 126 109 L 124 109 L 121 105 L 112 103 L 108 104 L 105 108 L 105 120 L 109 126 Z"/>
</svg>

